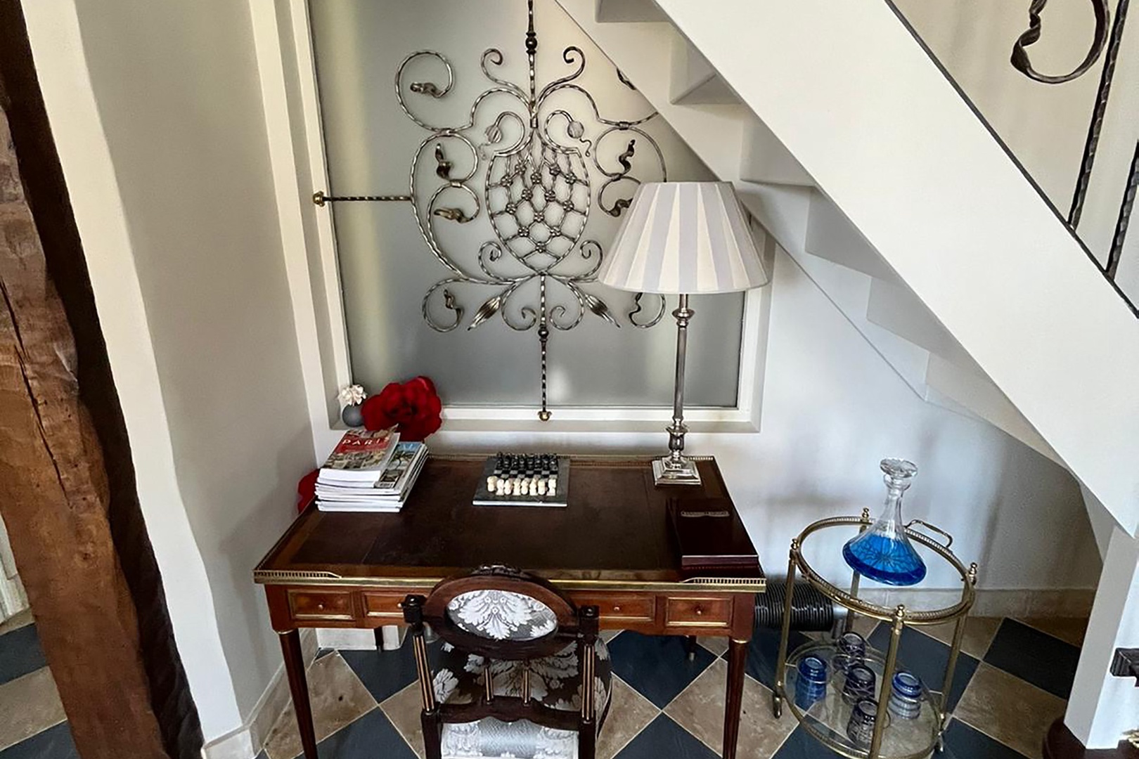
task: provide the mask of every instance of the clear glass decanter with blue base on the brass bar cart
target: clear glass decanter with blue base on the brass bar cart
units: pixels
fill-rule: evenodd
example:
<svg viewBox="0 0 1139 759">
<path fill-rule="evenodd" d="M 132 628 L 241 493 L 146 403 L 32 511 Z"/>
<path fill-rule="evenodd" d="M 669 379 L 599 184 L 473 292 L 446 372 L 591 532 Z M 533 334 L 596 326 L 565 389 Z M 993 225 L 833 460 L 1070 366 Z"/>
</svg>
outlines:
<svg viewBox="0 0 1139 759">
<path fill-rule="evenodd" d="M 878 521 L 843 546 L 843 558 L 863 577 L 886 585 L 917 585 L 925 579 L 925 562 L 918 555 L 902 522 L 902 494 L 918 468 L 902 459 L 883 459 L 886 506 Z"/>
</svg>

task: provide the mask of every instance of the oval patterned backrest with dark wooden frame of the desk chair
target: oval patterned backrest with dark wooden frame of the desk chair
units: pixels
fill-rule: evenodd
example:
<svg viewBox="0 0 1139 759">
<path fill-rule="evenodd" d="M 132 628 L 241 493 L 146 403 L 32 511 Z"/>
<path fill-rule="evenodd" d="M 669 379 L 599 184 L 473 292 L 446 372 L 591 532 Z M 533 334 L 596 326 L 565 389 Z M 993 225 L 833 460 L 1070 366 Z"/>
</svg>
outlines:
<svg viewBox="0 0 1139 759">
<path fill-rule="evenodd" d="M 423 617 L 457 649 L 499 660 L 552 655 L 579 633 L 570 599 L 539 577 L 499 566 L 441 581 Z"/>
</svg>

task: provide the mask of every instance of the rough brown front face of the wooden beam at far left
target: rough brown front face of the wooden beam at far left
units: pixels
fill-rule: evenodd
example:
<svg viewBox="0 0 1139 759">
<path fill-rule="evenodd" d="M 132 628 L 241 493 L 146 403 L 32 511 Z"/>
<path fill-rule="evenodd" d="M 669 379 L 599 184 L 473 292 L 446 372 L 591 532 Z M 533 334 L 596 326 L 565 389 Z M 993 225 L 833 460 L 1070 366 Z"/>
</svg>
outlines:
<svg viewBox="0 0 1139 759">
<path fill-rule="evenodd" d="M 0 110 L 0 514 L 84 759 L 163 758 L 103 448 Z"/>
</svg>

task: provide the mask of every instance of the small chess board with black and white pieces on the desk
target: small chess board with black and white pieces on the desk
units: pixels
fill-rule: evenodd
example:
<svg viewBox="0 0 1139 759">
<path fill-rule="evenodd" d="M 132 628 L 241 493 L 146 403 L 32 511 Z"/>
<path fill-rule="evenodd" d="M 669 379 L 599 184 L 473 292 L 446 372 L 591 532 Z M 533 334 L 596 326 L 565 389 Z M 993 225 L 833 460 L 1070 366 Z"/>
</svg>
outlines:
<svg viewBox="0 0 1139 759">
<path fill-rule="evenodd" d="M 476 506 L 562 506 L 568 503 L 570 456 L 487 456 L 472 503 Z"/>
</svg>

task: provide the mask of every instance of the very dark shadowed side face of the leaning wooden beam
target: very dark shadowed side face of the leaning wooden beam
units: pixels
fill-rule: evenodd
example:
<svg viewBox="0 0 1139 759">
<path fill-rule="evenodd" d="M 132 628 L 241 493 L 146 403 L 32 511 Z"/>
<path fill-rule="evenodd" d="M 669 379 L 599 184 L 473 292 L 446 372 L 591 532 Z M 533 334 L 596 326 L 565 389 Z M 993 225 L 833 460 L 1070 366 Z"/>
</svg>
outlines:
<svg viewBox="0 0 1139 759">
<path fill-rule="evenodd" d="M 67 312 L 74 337 L 73 365 L 80 402 L 90 412 L 103 446 L 110 498 L 107 519 L 138 617 L 150 708 L 158 719 L 166 752 L 175 759 L 200 759 L 202 727 L 142 518 L 126 422 L 19 2 L 0 1 L 0 102 L 8 117 L 24 196 L 39 232 L 48 278 Z M 83 625 L 84 620 L 76 617 L 71 624 Z"/>
</svg>

